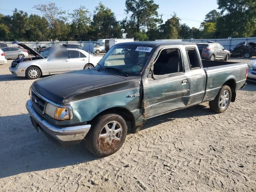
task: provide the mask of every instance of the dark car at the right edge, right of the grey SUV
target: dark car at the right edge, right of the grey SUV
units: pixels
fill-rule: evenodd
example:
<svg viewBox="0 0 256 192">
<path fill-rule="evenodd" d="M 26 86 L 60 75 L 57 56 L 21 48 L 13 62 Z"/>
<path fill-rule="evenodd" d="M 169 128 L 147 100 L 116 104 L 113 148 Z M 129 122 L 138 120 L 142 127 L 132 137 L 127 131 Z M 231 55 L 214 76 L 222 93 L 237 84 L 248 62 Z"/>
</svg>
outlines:
<svg viewBox="0 0 256 192">
<path fill-rule="evenodd" d="M 242 42 L 236 45 L 231 56 L 250 58 L 256 56 L 256 42 Z"/>
</svg>

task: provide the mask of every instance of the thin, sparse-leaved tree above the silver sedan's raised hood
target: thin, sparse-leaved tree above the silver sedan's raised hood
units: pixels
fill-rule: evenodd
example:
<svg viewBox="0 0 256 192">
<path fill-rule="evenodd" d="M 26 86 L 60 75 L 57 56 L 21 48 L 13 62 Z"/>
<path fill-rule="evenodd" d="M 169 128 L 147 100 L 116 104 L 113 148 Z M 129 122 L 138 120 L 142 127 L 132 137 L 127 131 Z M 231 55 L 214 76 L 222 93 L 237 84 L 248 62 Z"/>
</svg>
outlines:
<svg viewBox="0 0 256 192">
<path fill-rule="evenodd" d="M 58 26 L 60 23 L 58 22 L 65 22 L 67 20 L 66 11 L 58 8 L 55 3 L 49 2 L 48 4 L 38 4 L 34 6 L 35 9 L 40 10 L 43 14 L 43 16 L 46 18 L 49 24 L 49 28 L 51 30 L 51 33 L 49 34 L 49 38 L 56 38 L 58 34 L 61 32 L 57 29 L 60 29 Z M 54 29 L 56 27 L 56 29 Z"/>
</svg>

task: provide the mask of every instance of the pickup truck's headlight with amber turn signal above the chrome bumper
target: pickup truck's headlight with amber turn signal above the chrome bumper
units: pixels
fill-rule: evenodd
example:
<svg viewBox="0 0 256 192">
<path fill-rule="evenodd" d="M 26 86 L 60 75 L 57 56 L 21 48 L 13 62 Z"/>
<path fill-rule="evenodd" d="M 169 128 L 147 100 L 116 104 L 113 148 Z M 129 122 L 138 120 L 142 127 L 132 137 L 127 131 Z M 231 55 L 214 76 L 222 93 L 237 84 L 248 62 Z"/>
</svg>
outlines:
<svg viewBox="0 0 256 192">
<path fill-rule="evenodd" d="M 71 107 L 57 107 L 51 103 L 46 105 L 45 113 L 56 120 L 69 120 L 72 118 Z"/>
</svg>

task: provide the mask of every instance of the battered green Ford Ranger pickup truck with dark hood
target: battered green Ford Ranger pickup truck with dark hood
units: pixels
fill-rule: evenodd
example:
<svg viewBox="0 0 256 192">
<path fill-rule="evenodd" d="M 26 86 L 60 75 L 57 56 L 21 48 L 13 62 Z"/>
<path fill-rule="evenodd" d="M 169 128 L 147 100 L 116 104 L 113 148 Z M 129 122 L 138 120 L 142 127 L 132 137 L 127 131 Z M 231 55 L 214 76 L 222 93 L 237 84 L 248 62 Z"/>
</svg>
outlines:
<svg viewBox="0 0 256 192">
<path fill-rule="evenodd" d="M 120 43 L 96 68 L 35 81 L 26 108 L 36 130 L 59 142 L 84 141 L 104 157 L 149 118 L 202 102 L 224 112 L 247 72 L 247 64 L 201 60 L 189 42 Z"/>
</svg>

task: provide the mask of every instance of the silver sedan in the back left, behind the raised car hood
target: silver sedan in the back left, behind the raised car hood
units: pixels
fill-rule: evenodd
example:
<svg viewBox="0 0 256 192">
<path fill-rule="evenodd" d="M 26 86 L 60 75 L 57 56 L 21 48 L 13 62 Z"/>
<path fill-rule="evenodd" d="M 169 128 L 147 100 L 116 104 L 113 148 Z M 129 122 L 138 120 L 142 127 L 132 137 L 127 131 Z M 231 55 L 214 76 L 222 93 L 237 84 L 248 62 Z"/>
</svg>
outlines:
<svg viewBox="0 0 256 192">
<path fill-rule="evenodd" d="M 16 47 L 4 47 L 0 48 L 5 53 L 6 59 L 20 59 L 22 57 L 28 57 L 28 50 L 26 49 L 19 49 Z"/>
</svg>

